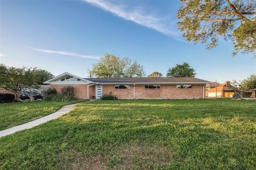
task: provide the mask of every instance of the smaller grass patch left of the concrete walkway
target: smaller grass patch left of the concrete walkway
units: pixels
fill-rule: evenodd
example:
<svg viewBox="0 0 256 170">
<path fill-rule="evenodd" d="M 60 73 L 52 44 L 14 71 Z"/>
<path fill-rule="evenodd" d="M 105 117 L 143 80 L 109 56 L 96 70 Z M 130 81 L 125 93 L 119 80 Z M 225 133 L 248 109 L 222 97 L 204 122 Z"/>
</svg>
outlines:
<svg viewBox="0 0 256 170">
<path fill-rule="evenodd" d="M 0 131 L 20 125 L 58 111 L 62 106 L 80 103 L 73 101 L 25 101 L 23 103 L 0 104 Z"/>
</svg>

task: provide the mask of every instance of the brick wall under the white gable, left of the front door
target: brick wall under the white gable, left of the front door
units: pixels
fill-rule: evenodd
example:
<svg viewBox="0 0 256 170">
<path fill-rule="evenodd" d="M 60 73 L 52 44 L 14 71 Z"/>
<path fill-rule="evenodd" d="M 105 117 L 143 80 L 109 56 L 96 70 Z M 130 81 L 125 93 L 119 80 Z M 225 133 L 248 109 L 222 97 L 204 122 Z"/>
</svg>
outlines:
<svg viewBox="0 0 256 170">
<path fill-rule="evenodd" d="M 65 86 L 74 87 L 74 94 L 78 99 L 87 99 L 87 84 L 73 84 L 73 85 L 65 85 L 65 84 L 52 84 L 51 88 L 55 88 L 57 92 L 60 94 L 61 89 Z M 90 99 L 95 96 L 95 86 L 89 86 Z"/>
</svg>

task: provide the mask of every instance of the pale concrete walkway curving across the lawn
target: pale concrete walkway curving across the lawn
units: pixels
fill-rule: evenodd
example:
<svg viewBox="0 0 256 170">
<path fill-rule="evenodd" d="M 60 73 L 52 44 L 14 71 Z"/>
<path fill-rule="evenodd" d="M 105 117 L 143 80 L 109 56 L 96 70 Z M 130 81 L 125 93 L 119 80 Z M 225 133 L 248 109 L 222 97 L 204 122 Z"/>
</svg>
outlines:
<svg viewBox="0 0 256 170">
<path fill-rule="evenodd" d="M 38 118 L 37 120 L 31 121 L 31 122 L 28 122 L 28 123 L 25 123 L 25 124 L 21 124 L 21 125 L 14 126 L 12 128 L 0 131 L 0 138 L 4 137 L 5 135 L 12 134 L 12 133 L 15 133 L 15 132 L 18 132 L 18 131 L 21 131 L 21 130 L 33 128 L 34 126 L 37 126 L 39 124 L 43 124 L 47 121 L 53 120 L 54 118 L 60 117 L 61 115 L 66 114 L 69 111 L 71 111 L 74 108 L 75 105 L 76 104 L 63 106 L 63 107 L 61 107 L 61 109 L 59 109 L 59 111 L 57 111 L 55 113 L 52 113 L 50 115 Z"/>
</svg>

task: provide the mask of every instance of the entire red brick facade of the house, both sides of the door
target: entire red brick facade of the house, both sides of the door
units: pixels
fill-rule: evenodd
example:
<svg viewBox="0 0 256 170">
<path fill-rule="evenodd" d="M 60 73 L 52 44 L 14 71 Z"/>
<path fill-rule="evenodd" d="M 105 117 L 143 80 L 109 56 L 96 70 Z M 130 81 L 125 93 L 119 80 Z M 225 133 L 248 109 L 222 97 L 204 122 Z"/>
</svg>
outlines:
<svg viewBox="0 0 256 170">
<path fill-rule="evenodd" d="M 73 86 L 77 98 L 87 98 L 87 84 L 55 85 L 51 88 L 61 89 L 65 86 Z M 115 89 L 114 85 L 103 85 L 102 94 L 113 92 L 118 99 L 133 99 L 133 85 L 130 89 Z M 95 86 L 89 87 L 90 99 L 95 98 Z M 161 85 L 161 89 L 145 89 L 145 85 L 135 85 L 135 99 L 199 99 L 203 98 L 203 85 L 193 85 L 191 89 L 177 89 L 176 85 Z"/>
</svg>

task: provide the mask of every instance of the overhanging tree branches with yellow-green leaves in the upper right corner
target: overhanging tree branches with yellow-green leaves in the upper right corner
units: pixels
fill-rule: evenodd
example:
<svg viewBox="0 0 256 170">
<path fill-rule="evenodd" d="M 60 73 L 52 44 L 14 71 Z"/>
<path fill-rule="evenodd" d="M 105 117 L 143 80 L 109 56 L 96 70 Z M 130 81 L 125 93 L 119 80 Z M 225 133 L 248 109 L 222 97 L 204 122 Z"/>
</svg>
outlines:
<svg viewBox="0 0 256 170">
<path fill-rule="evenodd" d="M 233 55 L 255 52 L 255 0 L 180 1 L 178 27 L 187 41 L 207 43 L 206 48 L 211 49 L 223 37 L 233 41 Z"/>
</svg>

